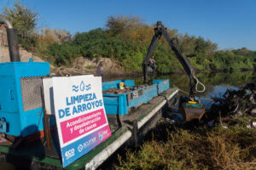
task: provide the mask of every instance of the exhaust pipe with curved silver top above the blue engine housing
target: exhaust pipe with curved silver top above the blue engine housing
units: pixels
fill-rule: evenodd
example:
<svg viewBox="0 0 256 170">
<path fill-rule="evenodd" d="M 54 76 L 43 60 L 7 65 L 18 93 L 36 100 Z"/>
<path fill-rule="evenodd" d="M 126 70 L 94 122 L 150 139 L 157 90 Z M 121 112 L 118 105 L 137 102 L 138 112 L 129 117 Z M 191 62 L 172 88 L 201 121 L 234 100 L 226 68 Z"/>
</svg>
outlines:
<svg viewBox="0 0 256 170">
<path fill-rule="evenodd" d="M 9 46 L 9 58 L 11 62 L 20 61 L 19 43 L 17 37 L 17 31 L 14 29 L 9 20 L 5 20 L 0 16 L 0 24 L 6 24 L 7 26 L 7 39 Z"/>
</svg>

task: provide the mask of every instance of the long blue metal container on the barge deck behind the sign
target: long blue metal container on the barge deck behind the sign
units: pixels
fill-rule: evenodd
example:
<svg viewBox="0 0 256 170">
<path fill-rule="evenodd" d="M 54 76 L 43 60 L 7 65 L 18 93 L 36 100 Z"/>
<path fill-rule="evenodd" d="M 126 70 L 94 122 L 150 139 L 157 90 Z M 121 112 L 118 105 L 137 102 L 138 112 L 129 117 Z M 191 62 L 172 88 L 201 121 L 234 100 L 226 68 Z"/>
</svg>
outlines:
<svg viewBox="0 0 256 170">
<path fill-rule="evenodd" d="M 124 82 L 126 86 L 134 87 L 134 80 L 117 80 L 103 82 L 102 89 L 119 88 L 119 82 Z M 128 114 L 131 107 L 137 107 L 148 103 L 158 94 L 161 94 L 169 87 L 169 80 L 154 80 L 153 85 L 145 88 L 137 88 L 125 94 L 103 94 L 104 106 L 108 115 L 124 116 Z"/>
</svg>

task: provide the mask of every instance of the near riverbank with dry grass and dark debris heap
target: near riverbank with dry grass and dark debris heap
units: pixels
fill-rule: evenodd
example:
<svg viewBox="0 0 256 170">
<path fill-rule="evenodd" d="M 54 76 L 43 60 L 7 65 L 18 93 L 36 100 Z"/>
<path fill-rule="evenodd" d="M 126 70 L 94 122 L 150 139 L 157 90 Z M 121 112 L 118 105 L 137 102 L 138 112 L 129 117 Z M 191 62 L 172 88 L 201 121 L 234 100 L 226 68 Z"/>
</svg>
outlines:
<svg viewBox="0 0 256 170">
<path fill-rule="evenodd" d="M 140 150 L 119 156 L 114 169 L 255 169 L 255 90 L 254 83 L 227 91 L 201 122 L 162 119 Z"/>
</svg>

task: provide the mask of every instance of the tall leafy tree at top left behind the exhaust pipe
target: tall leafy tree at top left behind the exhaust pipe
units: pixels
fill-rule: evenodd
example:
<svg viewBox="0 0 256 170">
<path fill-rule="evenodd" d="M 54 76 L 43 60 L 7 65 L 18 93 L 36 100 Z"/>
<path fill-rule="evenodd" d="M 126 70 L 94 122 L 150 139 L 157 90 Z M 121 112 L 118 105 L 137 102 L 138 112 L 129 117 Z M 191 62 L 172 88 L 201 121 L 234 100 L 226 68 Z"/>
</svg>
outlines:
<svg viewBox="0 0 256 170">
<path fill-rule="evenodd" d="M 27 8 L 19 0 L 15 0 L 11 7 L 3 7 L 2 10 L 3 15 L 17 30 L 21 45 L 25 48 L 34 46 L 37 40 L 34 30 L 37 26 L 38 13 Z"/>
</svg>

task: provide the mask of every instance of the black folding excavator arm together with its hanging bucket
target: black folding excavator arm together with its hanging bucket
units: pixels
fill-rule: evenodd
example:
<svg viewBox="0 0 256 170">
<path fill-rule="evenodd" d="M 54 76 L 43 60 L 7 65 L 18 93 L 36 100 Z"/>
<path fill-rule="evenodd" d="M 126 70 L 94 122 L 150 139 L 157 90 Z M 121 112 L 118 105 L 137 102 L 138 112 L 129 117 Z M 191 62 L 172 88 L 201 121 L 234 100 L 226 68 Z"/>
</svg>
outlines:
<svg viewBox="0 0 256 170">
<path fill-rule="evenodd" d="M 154 37 L 150 43 L 148 48 L 148 53 L 143 60 L 143 78 L 144 83 L 148 81 L 148 64 L 149 59 L 153 54 L 154 48 L 159 41 L 160 37 L 165 37 L 166 41 L 172 48 L 172 51 L 176 54 L 177 59 L 183 65 L 184 70 L 186 71 L 187 75 L 189 76 L 189 83 L 190 83 L 190 91 L 188 97 L 181 97 L 179 100 L 179 107 L 178 110 L 180 113 L 183 114 L 185 121 L 190 121 L 192 119 L 201 119 L 203 114 L 205 113 L 205 106 L 201 105 L 201 102 L 198 98 L 195 97 L 195 92 L 203 92 L 205 91 L 205 86 L 197 80 L 195 77 L 195 70 L 193 66 L 190 64 L 189 59 L 187 59 L 183 54 L 181 54 L 174 45 L 173 38 L 171 38 L 167 31 L 166 27 L 162 25 L 160 21 L 156 23 L 156 27 L 154 28 Z M 197 85 L 201 84 L 203 90 L 198 90 Z"/>
</svg>

